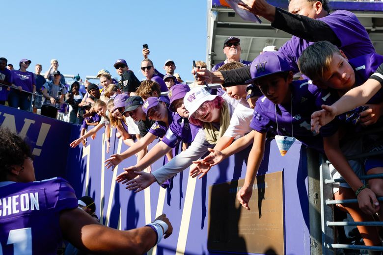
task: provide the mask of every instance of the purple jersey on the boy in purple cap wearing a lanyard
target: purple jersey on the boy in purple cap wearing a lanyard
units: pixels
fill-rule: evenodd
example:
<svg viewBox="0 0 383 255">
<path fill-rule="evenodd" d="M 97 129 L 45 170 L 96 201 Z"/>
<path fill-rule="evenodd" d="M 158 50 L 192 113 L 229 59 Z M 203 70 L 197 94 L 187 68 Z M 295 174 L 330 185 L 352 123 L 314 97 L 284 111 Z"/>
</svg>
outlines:
<svg viewBox="0 0 383 255">
<path fill-rule="evenodd" d="M 250 128 L 261 133 L 274 130 L 273 132 L 277 134 L 277 119 L 280 135 L 293 135 L 306 146 L 323 152 L 322 137 L 314 135 L 310 130 L 311 114 L 324 103 L 318 87 L 314 86 L 310 80 L 297 80 L 290 84 L 290 89 L 292 105 L 290 102 L 287 105 L 276 105 L 265 96 L 260 97 L 255 105 Z M 327 129 L 331 128 L 330 125 L 327 127 Z M 331 131 L 327 129 L 324 129 L 323 132 Z"/>
</svg>

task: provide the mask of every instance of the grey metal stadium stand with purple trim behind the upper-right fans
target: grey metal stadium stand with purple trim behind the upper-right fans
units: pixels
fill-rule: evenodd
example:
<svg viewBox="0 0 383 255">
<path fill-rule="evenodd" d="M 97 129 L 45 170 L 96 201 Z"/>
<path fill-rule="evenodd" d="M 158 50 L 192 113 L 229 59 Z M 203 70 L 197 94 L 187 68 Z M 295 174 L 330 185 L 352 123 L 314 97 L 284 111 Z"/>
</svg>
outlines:
<svg viewBox="0 0 383 255">
<path fill-rule="evenodd" d="M 219 0 L 207 0 L 207 48 L 208 67 L 226 59 L 223 43 L 229 36 L 241 39 L 244 60 L 253 60 L 265 46 L 281 47 L 291 35 L 275 29 L 270 22 L 261 18 L 262 23 L 244 21 L 233 9 L 222 6 Z M 274 6 L 287 9 L 287 0 L 269 0 Z M 383 2 L 382 1 L 330 1 L 332 10 L 349 10 L 356 14 L 367 29 L 376 51 L 383 54 Z"/>
</svg>

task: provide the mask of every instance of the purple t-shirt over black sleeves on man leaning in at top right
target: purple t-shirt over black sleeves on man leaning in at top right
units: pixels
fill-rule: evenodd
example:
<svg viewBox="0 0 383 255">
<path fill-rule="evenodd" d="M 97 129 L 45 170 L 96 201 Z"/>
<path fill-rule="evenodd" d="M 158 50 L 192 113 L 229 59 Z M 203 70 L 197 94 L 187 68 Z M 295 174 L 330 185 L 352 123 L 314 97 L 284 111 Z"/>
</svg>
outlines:
<svg viewBox="0 0 383 255">
<path fill-rule="evenodd" d="M 366 29 L 360 24 L 354 13 L 337 10 L 318 20 L 325 22 L 334 31 L 341 43 L 339 49 L 349 59 L 364 54 L 375 53 L 374 46 Z M 291 71 L 298 73 L 298 59 L 302 51 L 311 44 L 313 42 L 293 36 L 278 52 L 289 62 Z"/>
</svg>

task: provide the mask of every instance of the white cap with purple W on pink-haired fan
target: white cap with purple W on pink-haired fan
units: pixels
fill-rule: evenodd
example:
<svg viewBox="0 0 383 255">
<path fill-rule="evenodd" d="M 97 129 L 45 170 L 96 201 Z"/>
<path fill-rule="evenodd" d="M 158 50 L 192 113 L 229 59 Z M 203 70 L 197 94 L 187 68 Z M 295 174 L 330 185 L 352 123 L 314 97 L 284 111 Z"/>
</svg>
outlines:
<svg viewBox="0 0 383 255">
<path fill-rule="evenodd" d="M 217 95 L 211 95 L 203 87 L 192 88 L 192 90 L 186 93 L 184 97 L 184 105 L 185 108 L 189 111 L 189 118 L 196 110 L 198 110 L 202 103 L 206 101 L 212 101 L 216 97 Z"/>
</svg>

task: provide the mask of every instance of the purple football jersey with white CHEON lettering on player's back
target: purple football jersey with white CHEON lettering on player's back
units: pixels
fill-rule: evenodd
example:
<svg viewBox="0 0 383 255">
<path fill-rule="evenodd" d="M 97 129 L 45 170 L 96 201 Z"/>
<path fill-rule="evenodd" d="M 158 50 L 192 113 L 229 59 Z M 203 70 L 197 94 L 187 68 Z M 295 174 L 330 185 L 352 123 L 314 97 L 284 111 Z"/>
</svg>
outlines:
<svg viewBox="0 0 383 255">
<path fill-rule="evenodd" d="M 0 202 L 3 255 L 55 255 L 62 241 L 60 212 L 78 207 L 73 188 L 62 178 L 0 182 Z"/>
</svg>

